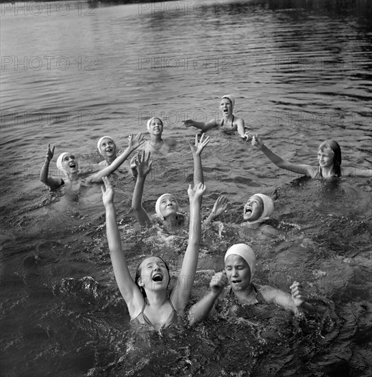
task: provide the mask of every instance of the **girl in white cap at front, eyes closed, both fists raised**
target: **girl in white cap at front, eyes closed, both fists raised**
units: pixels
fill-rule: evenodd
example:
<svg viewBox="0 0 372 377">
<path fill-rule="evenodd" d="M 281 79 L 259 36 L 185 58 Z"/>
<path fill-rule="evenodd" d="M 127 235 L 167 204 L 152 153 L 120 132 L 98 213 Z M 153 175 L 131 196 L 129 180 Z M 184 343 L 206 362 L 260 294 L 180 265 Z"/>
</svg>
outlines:
<svg viewBox="0 0 372 377">
<path fill-rule="evenodd" d="M 312 305 L 306 302 L 299 282 L 293 282 L 289 287 L 290 294 L 269 285 L 253 284 L 255 269 L 256 255 L 251 247 L 245 243 L 232 245 L 225 254 L 224 271 L 212 276 L 210 292 L 190 308 L 190 323 L 196 324 L 208 316 L 227 285 L 230 288 L 223 295 L 223 311 L 230 316 L 236 313 L 239 306 L 256 304 L 276 304 L 295 315 L 314 311 Z"/>
</svg>

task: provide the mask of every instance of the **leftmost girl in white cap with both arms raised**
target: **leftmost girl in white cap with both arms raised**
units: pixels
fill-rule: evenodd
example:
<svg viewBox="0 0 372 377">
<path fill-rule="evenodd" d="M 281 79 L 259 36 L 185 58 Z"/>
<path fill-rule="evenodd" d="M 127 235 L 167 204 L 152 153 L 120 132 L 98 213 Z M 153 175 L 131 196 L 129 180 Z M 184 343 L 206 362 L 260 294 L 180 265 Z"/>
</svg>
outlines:
<svg viewBox="0 0 372 377">
<path fill-rule="evenodd" d="M 90 175 L 86 178 L 86 182 L 90 183 L 101 183 L 102 177 L 110 175 L 114 172 L 132 153 L 135 149 L 137 149 L 142 143 L 145 142 L 142 134 L 139 133 L 134 137 L 132 135 L 129 138 L 129 145 L 127 149 L 117 157 L 110 165 L 99 171 L 98 173 Z M 75 159 L 75 155 L 71 154 L 70 152 L 63 152 L 57 159 L 56 165 L 58 169 L 58 175 L 60 177 L 49 177 L 49 162 L 54 156 L 54 145 L 53 147 L 48 144 L 47 147 L 47 155 L 45 156 L 44 165 L 42 165 L 42 169 L 40 171 L 40 181 L 51 189 L 56 189 L 62 184 L 67 182 L 73 183 L 79 180 L 79 165 L 77 164 L 77 160 Z"/>
</svg>

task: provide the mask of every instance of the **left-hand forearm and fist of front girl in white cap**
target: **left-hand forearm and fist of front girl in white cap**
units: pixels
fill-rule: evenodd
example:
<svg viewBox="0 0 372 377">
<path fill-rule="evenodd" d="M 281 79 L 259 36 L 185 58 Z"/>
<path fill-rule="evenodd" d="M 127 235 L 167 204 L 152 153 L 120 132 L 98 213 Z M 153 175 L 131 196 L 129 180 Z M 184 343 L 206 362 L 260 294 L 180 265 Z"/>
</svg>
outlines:
<svg viewBox="0 0 372 377">
<path fill-rule="evenodd" d="M 227 287 L 228 280 L 225 272 L 217 272 L 212 276 L 210 280 L 210 292 L 208 292 L 200 301 L 191 306 L 188 311 L 188 322 L 190 325 L 198 324 L 208 317 L 208 314 L 212 310 L 217 298 L 223 291 L 224 287 Z"/>
</svg>

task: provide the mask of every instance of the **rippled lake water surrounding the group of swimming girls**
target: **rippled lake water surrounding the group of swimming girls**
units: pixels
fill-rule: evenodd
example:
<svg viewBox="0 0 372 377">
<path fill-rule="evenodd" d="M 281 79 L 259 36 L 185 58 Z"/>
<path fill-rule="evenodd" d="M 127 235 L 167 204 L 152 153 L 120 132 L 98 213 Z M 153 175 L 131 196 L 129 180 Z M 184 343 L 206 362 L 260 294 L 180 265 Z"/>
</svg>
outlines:
<svg viewBox="0 0 372 377">
<path fill-rule="evenodd" d="M 120 148 L 153 115 L 177 140 L 153 156 L 144 205 L 192 180 L 182 120 L 219 117 L 236 98 L 277 154 L 316 165 L 334 138 L 343 166 L 371 167 L 372 5 L 367 0 L 0 3 L 1 376 L 371 376 L 371 179 L 298 179 L 236 135 L 210 132 L 203 213 L 230 199 L 201 242 L 191 302 L 233 243 L 258 255 L 256 280 L 301 280 L 327 307 L 303 324 L 280 308 L 212 317 L 195 329 L 132 333 L 116 288 L 99 185 L 50 193 L 38 180 L 48 143 L 97 169 L 97 140 Z M 148 138 L 148 136 L 146 136 Z M 54 162 L 51 171 L 55 172 Z M 134 225 L 127 169 L 114 173 L 123 248 L 134 270 L 162 254 L 177 273 L 186 232 Z M 243 204 L 275 198 L 275 239 L 244 234 Z"/>
</svg>

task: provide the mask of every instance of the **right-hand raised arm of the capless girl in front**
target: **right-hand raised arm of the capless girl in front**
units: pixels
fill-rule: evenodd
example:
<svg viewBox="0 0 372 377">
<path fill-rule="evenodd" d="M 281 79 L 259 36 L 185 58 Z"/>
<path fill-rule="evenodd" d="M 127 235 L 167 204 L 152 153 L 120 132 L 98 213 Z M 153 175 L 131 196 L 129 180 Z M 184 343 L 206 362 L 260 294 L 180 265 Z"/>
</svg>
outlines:
<svg viewBox="0 0 372 377">
<path fill-rule="evenodd" d="M 171 292 L 171 300 L 176 311 L 184 311 L 193 288 L 195 273 L 197 271 L 197 260 L 199 256 L 199 242 L 201 239 L 201 198 L 206 191 L 206 186 L 199 183 L 194 189 L 188 187 L 190 199 L 190 225 L 188 230 L 188 245 L 182 262 L 181 272 L 175 288 Z"/>
</svg>

